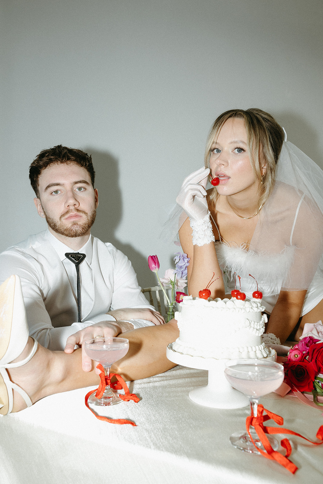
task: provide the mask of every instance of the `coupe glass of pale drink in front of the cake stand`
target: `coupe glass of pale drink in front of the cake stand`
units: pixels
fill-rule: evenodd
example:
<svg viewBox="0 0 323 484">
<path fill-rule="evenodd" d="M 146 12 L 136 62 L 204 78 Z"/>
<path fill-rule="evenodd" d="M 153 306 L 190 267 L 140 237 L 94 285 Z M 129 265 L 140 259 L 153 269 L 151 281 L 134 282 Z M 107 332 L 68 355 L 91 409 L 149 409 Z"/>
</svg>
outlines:
<svg viewBox="0 0 323 484">
<path fill-rule="evenodd" d="M 283 365 L 266 360 L 230 360 L 226 363 L 224 374 L 232 387 L 244 393 L 250 400 L 252 415 L 257 417 L 258 398 L 276 390 L 284 380 Z M 256 446 L 264 451 L 264 447 L 255 429 L 250 427 L 250 434 Z M 276 439 L 266 436 L 270 445 L 277 450 Z M 231 444 L 238 449 L 253 454 L 260 454 L 247 432 L 236 432 L 230 437 Z"/>
</svg>

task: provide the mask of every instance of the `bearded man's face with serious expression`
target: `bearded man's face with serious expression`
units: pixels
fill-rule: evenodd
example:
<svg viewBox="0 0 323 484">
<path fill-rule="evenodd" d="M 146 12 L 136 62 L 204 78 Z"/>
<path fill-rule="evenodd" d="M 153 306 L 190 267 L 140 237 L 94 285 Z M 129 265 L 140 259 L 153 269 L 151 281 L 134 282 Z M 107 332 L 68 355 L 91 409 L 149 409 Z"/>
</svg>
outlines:
<svg viewBox="0 0 323 484">
<path fill-rule="evenodd" d="M 88 171 L 74 163 L 53 164 L 42 171 L 38 182 L 40 198 L 34 202 L 49 230 L 64 237 L 88 235 L 98 205 Z"/>
</svg>

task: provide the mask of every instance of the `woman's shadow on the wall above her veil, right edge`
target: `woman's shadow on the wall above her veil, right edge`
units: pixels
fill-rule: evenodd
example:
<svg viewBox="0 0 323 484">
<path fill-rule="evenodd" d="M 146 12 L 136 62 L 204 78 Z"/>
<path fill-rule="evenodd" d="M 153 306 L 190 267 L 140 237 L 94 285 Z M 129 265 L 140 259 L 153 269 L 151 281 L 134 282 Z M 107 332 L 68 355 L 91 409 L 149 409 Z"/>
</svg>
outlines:
<svg viewBox="0 0 323 484">
<path fill-rule="evenodd" d="M 318 130 L 314 131 L 305 119 L 291 111 L 278 114 L 276 119 L 281 126 L 284 126 L 287 140 L 291 141 L 323 169 L 323 156 L 319 149 Z"/>
</svg>

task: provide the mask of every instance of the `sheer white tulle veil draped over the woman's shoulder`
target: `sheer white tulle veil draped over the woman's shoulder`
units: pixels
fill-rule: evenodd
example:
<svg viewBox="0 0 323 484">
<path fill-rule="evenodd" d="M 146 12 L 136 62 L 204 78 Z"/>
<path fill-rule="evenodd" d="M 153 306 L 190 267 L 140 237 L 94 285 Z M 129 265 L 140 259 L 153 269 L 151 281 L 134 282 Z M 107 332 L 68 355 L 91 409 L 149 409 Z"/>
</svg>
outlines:
<svg viewBox="0 0 323 484">
<path fill-rule="evenodd" d="M 183 209 L 175 205 L 164 224 L 162 239 L 178 241 L 178 230 L 185 218 Z M 277 162 L 274 190 L 260 212 L 239 271 L 243 276 L 254 268 L 253 275 L 258 277 L 261 288 L 269 288 L 275 279 L 286 290 L 307 289 L 314 275 L 323 280 L 322 254 L 323 170 L 285 138 Z M 267 257 L 265 270 L 263 267 L 257 270 L 255 255 Z"/>
</svg>

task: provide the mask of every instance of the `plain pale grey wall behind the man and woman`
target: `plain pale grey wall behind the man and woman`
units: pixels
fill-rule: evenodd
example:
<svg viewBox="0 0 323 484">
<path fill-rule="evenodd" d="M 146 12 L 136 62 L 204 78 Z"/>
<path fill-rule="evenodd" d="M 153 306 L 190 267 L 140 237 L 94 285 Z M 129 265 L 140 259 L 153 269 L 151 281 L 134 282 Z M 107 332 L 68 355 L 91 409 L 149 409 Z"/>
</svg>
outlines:
<svg viewBox="0 0 323 484">
<path fill-rule="evenodd" d="M 46 228 L 28 168 L 92 153 L 92 233 L 155 284 L 158 236 L 215 117 L 260 107 L 323 167 L 322 0 L 2 0 L 0 250 Z M 162 275 L 162 274 L 161 274 Z"/>
</svg>

